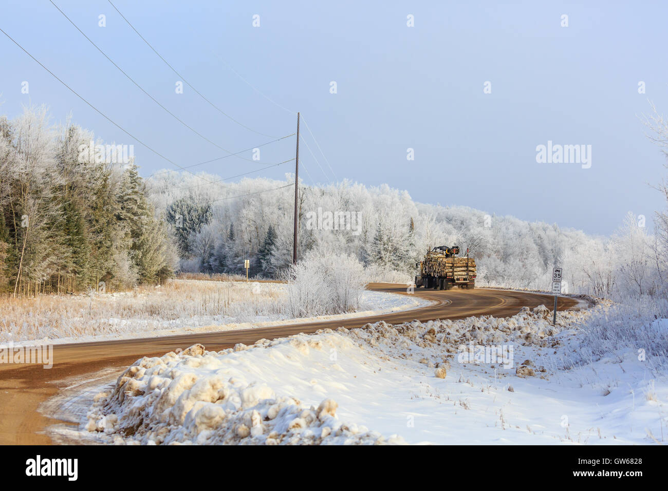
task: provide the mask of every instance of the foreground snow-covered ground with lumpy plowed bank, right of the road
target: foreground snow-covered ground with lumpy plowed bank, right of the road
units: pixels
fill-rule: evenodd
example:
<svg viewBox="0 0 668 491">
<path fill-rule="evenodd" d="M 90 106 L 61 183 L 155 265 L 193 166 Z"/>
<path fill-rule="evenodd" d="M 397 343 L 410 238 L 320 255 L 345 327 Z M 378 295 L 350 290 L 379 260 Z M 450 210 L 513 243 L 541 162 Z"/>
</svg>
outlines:
<svg viewBox="0 0 668 491">
<path fill-rule="evenodd" d="M 591 358 L 592 311 L 383 322 L 138 360 L 80 436 L 116 444 L 653 444 L 664 372 L 625 347 Z M 667 323 L 658 323 L 666 329 Z M 478 347 L 500 359 L 482 360 Z M 468 359 L 468 356 L 472 357 Z"/>
</svg>

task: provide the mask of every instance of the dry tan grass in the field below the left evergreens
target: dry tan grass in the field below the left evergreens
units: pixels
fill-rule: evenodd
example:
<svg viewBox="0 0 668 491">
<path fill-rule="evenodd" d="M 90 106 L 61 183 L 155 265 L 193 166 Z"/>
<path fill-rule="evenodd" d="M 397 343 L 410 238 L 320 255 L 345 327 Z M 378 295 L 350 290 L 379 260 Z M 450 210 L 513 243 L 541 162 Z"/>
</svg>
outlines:
<svg viewBox="0 0 668 491">
<path fill-rule="evenodd" d="M 281 311 L 285 286 L 172 280 L 126 293 L 0 298 L 0 342 L 244 322 Z"/>
</svg>

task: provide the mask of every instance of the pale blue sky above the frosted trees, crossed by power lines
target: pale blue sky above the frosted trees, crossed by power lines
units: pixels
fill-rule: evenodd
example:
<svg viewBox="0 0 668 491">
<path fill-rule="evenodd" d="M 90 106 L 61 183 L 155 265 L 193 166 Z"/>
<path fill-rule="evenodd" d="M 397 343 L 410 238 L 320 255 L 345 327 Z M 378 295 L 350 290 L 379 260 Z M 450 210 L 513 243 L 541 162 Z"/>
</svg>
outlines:
<svg viewBox="0 0 668 491">
<path fill-rule="evenodd" d="M 146 92 L 232 152 L 273 138 L 238 126 L 185 86 L 106 0 L 55 3 Z M 609 234 L 662 208 L 665 159 L 640 120 L 668 113 L 662 2 L 185 2 L 112 0 L 186 80 L 242 124 L 295 131 L 301 111 L 337 178 L 414 200 Z M 98 16 L 106 15 L 106 27 Z M 260 27 L 253 27 L 253 15 Z M 407 27 L 407 15 L 415 27 Z M 561 16 L 568 15 L 568 27 Z M 81 96 L 182 166 L 224 156 L 166 114 L 48 0 L 3 2 L 0 27 Z M 0 113 L 47 104 L 108 142 L 134 144 L 148 175 L 171 164 L 86 106 L 0 33 Z M 246 81 L 234 73 L 236 71 Z M 21 82 L 29 94 L 21 94 Z M 336 81 L 337 94 L 330 94 Z M 492 93 L 484 94 L 486 81 Z M 638 93 L 639 81 L 646 93 Z M 249 85 L 250 84 L 250 85 Z M 257 89 L 257 90 L 256 90 Z M 273 104 L 273 100 L 283 108 Z M 331 182 L 311 135 L 307 183 Z M 536 146 L 592 146 L 592 166 L 538 164 Z M 407 161 L 407 148 L 415 160 Z M 193 170 L 232 176 L 292 158 L 295 140 Z M 244 156 L 251 158 L 251 152 Z M 292 164 L 251 174 L 283 179 Z"/>
</svg>

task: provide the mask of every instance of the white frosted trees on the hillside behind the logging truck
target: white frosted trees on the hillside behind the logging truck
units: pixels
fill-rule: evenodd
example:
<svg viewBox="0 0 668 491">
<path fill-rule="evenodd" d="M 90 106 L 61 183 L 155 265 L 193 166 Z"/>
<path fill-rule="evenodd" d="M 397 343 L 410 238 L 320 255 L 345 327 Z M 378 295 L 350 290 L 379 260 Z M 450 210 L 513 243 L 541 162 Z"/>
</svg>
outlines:
<svg viewBox="0 0 668 491">
<path fill-rule="evenodd" d="M 186 217 L 176 228 L 183 269 L 242 273 L 249 258 L 251 275 L 273 276 L 292 260 L 294 191 L 279 187 L 293 178 L 218 186 L 202 185 L 190 174 L 162 172 L 148 184 L 152 200 L 166 210 L 172 226 L 176 217 Z M 620 217 L 613 236 L 597 237 L 556 224 L 497 216 L 492 210 L 418 203 L 407 192 L 387 186 L 301 183 L 300 196 L 299 257 L 309 251 L 351 255 L 363 263 L 369 280 L 407 281 L 428 247 L 448 244 L 469 249 L 480 285 L 549 289 L 553 265 L 564 268 L 573 293 L 653 293 L 663 284 L 665 242 L 649 234 L 642 217 L 631 212 Z M 318 208 L 321 214 L 359 213 L 359 228 L 333 230 L 325 219 L 321 226 L 309 222 L 307 215 L 317 214 Z"/>
</svg>

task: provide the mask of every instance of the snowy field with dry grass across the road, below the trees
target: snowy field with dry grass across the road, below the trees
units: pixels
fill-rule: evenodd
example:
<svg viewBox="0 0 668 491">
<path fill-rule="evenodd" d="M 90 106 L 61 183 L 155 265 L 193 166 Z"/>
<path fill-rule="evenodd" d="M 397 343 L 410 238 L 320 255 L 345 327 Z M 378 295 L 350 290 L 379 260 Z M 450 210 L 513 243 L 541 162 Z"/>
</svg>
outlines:
<svg viewBox="0 0 668 491">
<path fill-rule="evenodd" d="M 33 299 L 35 305 L 19 309 L 14 303 L 15 311 L 3 312 L 0 343 L 81 343 L 255 329 L 379 315 L 430 303 L 417 295 L 363 291 L 357 311 L 293 319 L 281 309 L 286 287 L 281 283 L 178 280 L 161 289 L 131 293 L 43 296 Z"/>
</svg>

